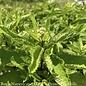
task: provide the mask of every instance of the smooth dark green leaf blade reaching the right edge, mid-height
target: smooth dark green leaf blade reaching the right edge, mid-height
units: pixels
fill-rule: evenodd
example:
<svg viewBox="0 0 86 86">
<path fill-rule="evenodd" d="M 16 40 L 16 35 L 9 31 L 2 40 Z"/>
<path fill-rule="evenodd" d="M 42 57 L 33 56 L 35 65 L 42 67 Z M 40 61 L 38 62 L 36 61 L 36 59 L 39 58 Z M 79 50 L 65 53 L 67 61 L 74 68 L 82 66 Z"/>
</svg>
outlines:
<svg viewBox="0 0 86 86">
<path fill-rule="evenodd" d="M 65 52 L 61 52 L 58 56 L 62 58 L 67 64 L 80 64 L 80 65 L 85 64 L 86 65 L 86 57 L 84 56 L 71 55 Z"/>
</svg>

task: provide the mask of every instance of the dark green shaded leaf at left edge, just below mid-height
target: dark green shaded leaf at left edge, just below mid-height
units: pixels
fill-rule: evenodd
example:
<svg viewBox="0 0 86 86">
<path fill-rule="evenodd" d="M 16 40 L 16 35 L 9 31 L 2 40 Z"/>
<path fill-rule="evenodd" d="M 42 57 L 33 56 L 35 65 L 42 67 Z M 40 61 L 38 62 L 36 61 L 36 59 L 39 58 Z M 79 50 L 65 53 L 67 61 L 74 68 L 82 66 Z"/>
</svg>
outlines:
<svg viewBox="0 0 86 86">
<path fill-rule="evenodd" d="M 24 51 L 18 50 L 6 50 L 6 49 L 0 49 L 0 58 L 3 64 L 10 63 L 11 57 L 14 57 L 15 61 L 18 63 L 23 62 L 21 57 L 27 56 Z"/>
</svg>

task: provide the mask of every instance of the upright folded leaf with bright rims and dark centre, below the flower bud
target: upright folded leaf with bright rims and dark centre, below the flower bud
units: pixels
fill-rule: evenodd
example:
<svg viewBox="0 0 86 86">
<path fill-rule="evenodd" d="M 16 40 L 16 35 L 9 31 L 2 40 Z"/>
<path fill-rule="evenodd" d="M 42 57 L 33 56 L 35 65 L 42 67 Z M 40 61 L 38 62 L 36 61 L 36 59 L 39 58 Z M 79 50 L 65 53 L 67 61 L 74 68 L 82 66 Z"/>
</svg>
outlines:
<svg viewBox="0 0 86 86">
<path fill-rule="evenodd" d="M 36 72 L 36 70 L 39 66 L 43 51 L 44 51 L 44 49 L 41 48 L 40 46 L 36 46 L 36 47 L 30 49 L 30 54 L 31 54 L 31 58 L 32 58 L 31 64 L 28 67 L 28 70 L 30 73 Z"/>
</svg>

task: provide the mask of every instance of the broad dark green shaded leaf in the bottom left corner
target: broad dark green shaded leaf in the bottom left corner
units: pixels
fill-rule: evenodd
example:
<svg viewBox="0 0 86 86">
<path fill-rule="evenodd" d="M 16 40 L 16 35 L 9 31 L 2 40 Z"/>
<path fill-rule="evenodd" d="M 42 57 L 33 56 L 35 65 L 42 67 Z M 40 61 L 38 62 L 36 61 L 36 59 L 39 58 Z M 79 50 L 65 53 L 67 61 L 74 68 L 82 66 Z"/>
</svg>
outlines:
<svg viewBox="0 0 86 86">
<path fill-rule="evenodd" d="M 0 76 L 0 82 L 3 82 L 3 84 L 7 83 L 7 81 L 10 83 L 22 83 L 23 80 L 20 77 L 22 74 L 17 68 L 4 67 L 4 69 L 5 71 L 3 71 L 3 75 Z"/>
</svg>

